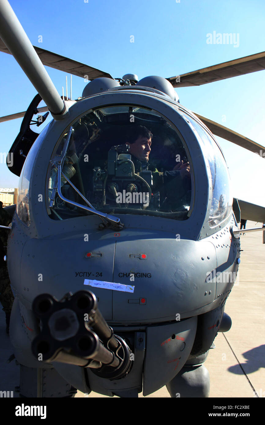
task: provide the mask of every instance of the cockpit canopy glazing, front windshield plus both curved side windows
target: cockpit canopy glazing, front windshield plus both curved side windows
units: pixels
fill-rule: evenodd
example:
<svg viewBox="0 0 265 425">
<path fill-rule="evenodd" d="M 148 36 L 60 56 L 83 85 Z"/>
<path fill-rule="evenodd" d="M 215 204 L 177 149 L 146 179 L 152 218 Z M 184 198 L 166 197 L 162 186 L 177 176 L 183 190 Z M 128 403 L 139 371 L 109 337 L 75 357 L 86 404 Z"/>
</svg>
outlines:
<svg viewBox="0 0 265 425">
<path fill-rule="evenodd" d="M 50 218 L 63 220 L 100 212 L 184 221 L 196 205 L 206 227 L 214 231 L 232 210 L 228 169 L 209 130 L 181 105 L 178 111 L 178 122 L 180 115 L 183 119 L 181 133 L 162 113 L 124 104 L 90 109 L 63 133 L 60 130 L 63 135 L 51 155 L 46 179 Z M 20 176 L 17 214 L 27 226 L 32 219 L 30 176 L 48 127 L 34 142 Z M 191 156 L 182 134 L 188 146 L 193 141 L 194 147 L 197 141 Z M 208 180 L 199 175 L 203 172 L 205 176 L 205 171 Z M 198 196 L 204 196 L 203 200 L 196 201 Z"/>
</svg>

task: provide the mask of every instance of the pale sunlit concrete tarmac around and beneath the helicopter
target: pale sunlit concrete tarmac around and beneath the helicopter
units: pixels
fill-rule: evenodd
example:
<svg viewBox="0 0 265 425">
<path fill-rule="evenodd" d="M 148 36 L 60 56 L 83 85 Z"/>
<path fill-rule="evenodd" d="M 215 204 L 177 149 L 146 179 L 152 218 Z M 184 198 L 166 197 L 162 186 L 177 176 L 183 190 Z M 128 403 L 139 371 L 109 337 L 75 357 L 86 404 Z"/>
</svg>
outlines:
<svg viewBox="0 0 265 425">
<path fill-rule="evenodd" d="M 251 227 L 261 224 L 248 221 L 247 228 Z M 204 363 L 211 380 L 209 397 L 265 397 L 265 244 L 262 232 L 241 236 L 240 242 L 239 273 L 225 304 L 232 327 L 218 333 Z M 6 363 L 14 351 L 5 329 L 5 314 L 0 310 L 0 391 L 14 391 L 19 385 L 19 366 L 15 360 Z M 17 392 L 13 395 L 18 397 Z M 107 396 L 77 391 L 75 397 Z M 146 397 L 170 398 L 165 386 Z"/>
</svg>

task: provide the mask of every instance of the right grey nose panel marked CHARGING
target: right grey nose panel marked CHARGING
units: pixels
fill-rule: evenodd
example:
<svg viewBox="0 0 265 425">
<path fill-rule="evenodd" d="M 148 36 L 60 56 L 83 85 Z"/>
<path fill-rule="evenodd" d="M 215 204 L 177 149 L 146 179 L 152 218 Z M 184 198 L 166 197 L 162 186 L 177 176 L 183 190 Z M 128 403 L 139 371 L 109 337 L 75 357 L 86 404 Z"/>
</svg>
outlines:
<svg viewBox="0 0 265 425">
<path fill-rule="evenodd" d="M 127 241 L 121 240 L 116 244 L 114 282 L 131 284 L 135 288 L 133 294 L 113 291 L 114 321 L 144 323 L 158 318 L 161 322 L 175 320 L 176 313 L 182 317 L 182 313 L 189 314 L 191 309 L 214 300 L 214 284 L 206 283 L 205 279 L 202 281 L 202 276 L 206 277 L 208 270 L 214 270 L 217 264 L 211 243 L 177 242 L 175 239 L 131 240 L 129 255 L 144 253 L 145 260 L 129 258 L 126 244 Z M 206 261 L 202 261 L 202 257 Z M 134 282 L 130 282 L 130 273 L 135 273 Z M 210 292 L 210 295 L 206 297 L 205 292 Z M 146 304 L 141 304 L 142 298 L 146 299 Z"/>
</svg>

